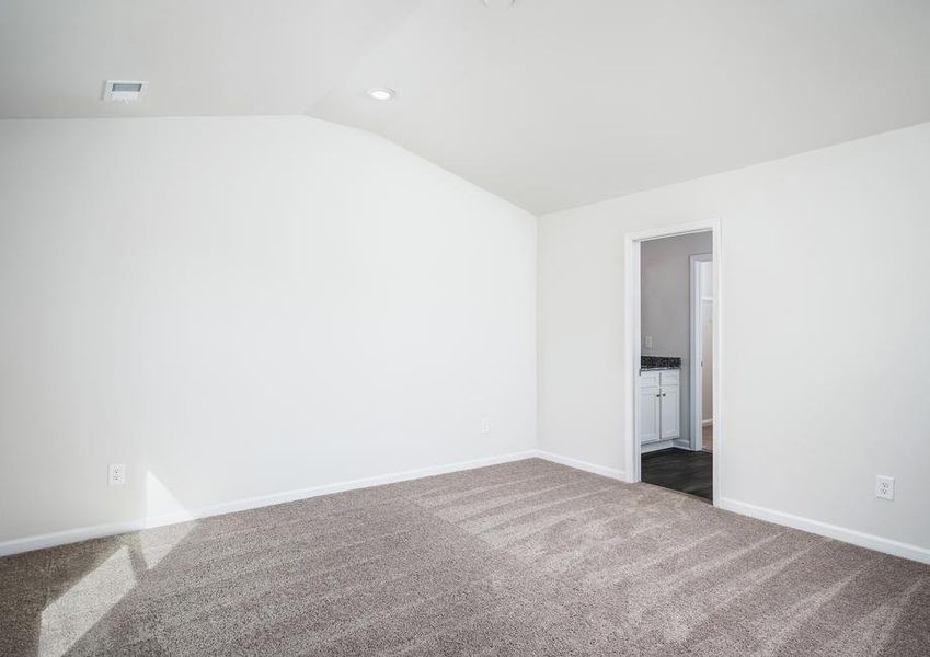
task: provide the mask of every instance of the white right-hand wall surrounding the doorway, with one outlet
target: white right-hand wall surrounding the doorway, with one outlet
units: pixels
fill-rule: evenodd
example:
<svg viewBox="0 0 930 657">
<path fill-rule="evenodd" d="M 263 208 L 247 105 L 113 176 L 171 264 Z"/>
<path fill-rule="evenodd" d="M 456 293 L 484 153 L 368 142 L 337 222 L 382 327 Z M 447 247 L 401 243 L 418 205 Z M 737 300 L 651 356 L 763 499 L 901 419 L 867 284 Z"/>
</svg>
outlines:
<svg viewBox="0 0 930 657">
<path fill-rule="evenodd" d="M 541 448 L 628 466 L 623 235 L 719 218 L 723 496 L 930 549 L 928 217 L 930 124 L 542 217 Z"/>
</svg>

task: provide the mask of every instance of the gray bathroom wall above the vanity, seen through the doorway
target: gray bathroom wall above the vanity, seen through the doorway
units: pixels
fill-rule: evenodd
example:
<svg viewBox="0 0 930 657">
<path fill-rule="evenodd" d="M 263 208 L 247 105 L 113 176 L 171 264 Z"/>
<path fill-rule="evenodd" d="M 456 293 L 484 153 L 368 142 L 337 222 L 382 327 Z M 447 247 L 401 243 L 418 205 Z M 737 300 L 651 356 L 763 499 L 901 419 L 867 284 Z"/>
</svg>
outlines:
<svg viewBox="0 0 930 657">
<path fill-rule="evenodd" d="M 641 249 L 641 335 L 652 337 L 645 356 L 681 359 L 679 426 L 691 441 L 691 256 L 713 251 L 710 232 L 647 240 Z"/>
</svg>

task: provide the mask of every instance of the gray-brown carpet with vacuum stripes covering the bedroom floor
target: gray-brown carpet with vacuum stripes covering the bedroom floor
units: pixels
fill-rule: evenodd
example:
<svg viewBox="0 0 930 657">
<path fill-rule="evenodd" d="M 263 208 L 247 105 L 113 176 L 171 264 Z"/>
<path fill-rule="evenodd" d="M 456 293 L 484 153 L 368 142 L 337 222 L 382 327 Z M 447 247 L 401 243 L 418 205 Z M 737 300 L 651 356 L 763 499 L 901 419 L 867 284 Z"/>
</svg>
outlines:
<svg viewBox="0 0 930 657">
<path fill-rule="evenodd" d="M 532 459 L 0 560 L 0 654 L 930 655 L 930 567 Z"/>
</svg>

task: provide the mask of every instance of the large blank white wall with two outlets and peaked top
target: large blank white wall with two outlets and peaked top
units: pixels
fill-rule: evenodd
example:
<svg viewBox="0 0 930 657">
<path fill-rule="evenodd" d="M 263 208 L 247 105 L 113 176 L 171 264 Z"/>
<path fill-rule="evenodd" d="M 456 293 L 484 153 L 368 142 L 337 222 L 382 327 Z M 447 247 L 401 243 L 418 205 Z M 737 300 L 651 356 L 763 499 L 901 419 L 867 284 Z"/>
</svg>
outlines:
<svg viewBox="0 0 930 657">
<path fill-rule="evenodd" d="M 531 449 L 535 297 L 536 218 L 372 135 L 0 122 L 0 541 Z"/>
</svg>

